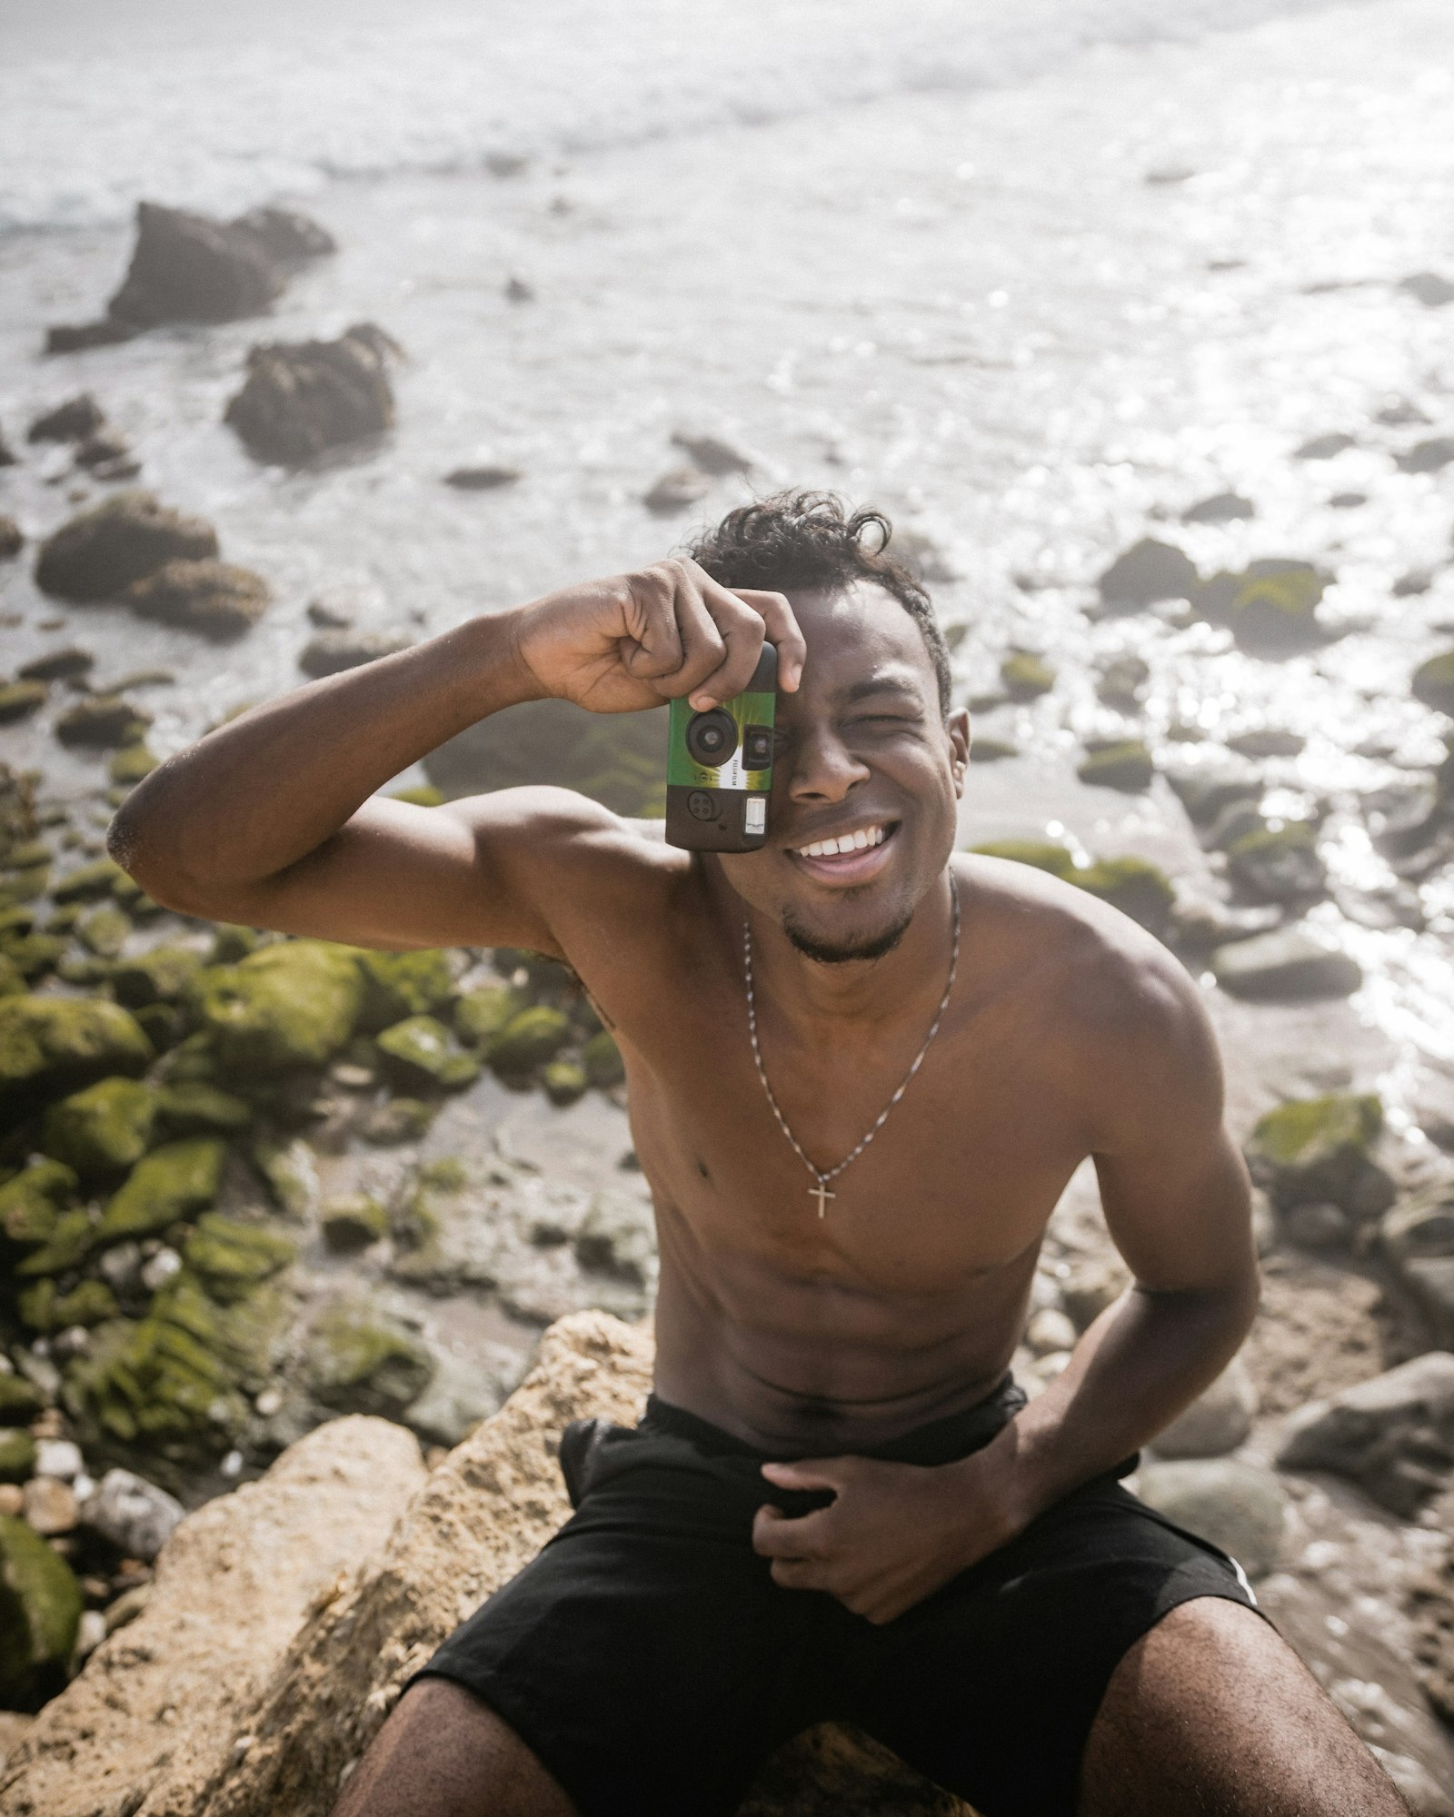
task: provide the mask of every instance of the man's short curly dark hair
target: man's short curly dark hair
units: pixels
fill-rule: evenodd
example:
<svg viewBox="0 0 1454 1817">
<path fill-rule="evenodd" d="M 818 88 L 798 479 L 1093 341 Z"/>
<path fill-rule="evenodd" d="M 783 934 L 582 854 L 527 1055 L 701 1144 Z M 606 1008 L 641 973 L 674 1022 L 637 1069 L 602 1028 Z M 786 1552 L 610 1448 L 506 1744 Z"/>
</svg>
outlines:
<svg viewBox="0 0 1454 1817">
<path fill-rule="evenodd" d="M 949 716 L 949 647 L 929 594 L 911 569 L 889 554 L 894 527 L 872 507 L 849 514 L 836 492 L 774 492 L 729 511 L 689 551 L 723 587 L 840 589 L 869 580 L 892 594 L 920 627 Z"/>
</svg>

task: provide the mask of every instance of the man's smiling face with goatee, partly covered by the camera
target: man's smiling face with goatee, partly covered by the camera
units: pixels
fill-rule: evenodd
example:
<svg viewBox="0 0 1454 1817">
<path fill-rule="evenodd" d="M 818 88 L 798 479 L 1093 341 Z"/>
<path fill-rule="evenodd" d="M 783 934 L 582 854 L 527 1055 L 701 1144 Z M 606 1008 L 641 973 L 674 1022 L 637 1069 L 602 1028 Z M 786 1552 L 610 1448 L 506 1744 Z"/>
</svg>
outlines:
<svg viewBox="0 0 1454 1817">
<path fill-rule="evenodd" d="M 778 694 L 771 832 L 722 870 L 811 958 L 876 958 L 954 849 L 969 720 L 941 718 L 929 650 L 891 594 L 789 600 L 807 663 L 798 692 Z"/>
</svg>

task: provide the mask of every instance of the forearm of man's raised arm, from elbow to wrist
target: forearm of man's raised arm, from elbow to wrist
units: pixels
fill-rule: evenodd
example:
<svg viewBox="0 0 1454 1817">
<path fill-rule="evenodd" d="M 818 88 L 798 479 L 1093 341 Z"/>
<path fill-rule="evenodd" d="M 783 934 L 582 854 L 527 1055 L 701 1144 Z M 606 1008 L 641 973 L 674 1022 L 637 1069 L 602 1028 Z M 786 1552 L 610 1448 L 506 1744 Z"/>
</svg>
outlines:
<svg viewBox="0 0 1454 1817">
<path fill-rule="evenodd" d="M 540 696 L 514 620 L 471 620 L 218 727 L 133 790 L 113 854 L 182 907 L 196 894 L 204 912 L 209 889 L 276 876 L 425 752 Z"/>
</svg>

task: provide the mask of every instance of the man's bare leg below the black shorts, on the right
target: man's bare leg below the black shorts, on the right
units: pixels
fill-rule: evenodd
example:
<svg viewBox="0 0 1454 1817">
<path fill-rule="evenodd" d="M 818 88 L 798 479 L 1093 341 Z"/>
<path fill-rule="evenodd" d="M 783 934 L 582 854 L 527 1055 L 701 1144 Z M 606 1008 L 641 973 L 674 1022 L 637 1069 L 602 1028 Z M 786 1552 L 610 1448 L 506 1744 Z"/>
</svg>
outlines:
<svg viewBox="0 0 1454 1817">
<path fill-rule="evenodd" d="M 1116 1666 L 1080 1817 L 1409 1817 L 1292 1648 L 1250 1608 L 1180 1603 Z"/>
</svg>

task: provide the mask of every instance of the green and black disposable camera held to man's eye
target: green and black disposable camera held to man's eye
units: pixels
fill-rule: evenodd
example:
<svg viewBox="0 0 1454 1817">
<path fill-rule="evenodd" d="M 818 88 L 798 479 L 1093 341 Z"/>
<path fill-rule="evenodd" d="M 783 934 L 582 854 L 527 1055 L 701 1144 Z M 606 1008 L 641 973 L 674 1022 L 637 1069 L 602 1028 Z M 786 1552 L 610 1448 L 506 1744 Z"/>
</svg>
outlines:
<svg viewBox="0 0 1454 1817">
<path fill-rule="evenodd" d="M 767 841 L 778 652 L 763 643 L 752 680 L 732 700 L 696 712 L 671 703 L 667 843 L 689 852 L 756 852 Z"/>
</svg>

